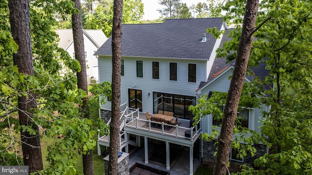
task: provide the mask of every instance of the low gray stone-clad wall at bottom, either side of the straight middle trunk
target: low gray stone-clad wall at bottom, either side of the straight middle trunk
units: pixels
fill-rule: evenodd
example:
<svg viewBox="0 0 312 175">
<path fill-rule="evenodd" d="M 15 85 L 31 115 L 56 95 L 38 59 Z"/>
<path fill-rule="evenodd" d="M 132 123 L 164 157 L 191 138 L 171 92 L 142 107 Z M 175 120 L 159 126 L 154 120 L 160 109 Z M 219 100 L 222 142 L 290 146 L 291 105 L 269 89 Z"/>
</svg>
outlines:
<svg viewBox="0 0 312 175">
<path fill-rule="evenodd" d="M 122 153 L 118 157 L 118 175 L 130 175 L 129 167 L 129 155 L 128 153 Z M 109 155 L 104 158 L 105 175 L 108 175 Z"/>
</svg>

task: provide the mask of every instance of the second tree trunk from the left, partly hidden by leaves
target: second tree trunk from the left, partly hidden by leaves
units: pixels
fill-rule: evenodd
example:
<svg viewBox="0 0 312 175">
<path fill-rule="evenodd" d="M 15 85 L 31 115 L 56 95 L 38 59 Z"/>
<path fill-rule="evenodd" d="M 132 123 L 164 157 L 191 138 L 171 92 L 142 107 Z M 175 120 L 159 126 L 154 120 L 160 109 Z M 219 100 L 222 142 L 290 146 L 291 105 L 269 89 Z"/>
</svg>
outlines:
<svg viewBox="0 0 312 175">
<path fill-rule="evenodd" d="M 82 18 L 81 18 L 81 5 L 80 0 L 73 0 L 75 2 L 75 7 L 78 9 L 78 14 L 72 15 L 72 25 L 73 25 L 73 39 L 74 39 L 74 50 L 75 58 L 79 61 L 81 71 L 77 72 L 77 87 L 88 93 L 88 83 L 87 83 L 87 69 L 86 60 L 84 54 L 84 41 L 83 41 L 83 31 L 82 31 Z M 89 109 L 87 107 L 87 98 L 82 99 L 83 103 L 81 107 L 81 112 L 83 117 L 89 118 Z M 90 150 L 89 154 L 82 154 L 82 164 L 83 164 L 83 174 L 84 175 L 94 175 L 93 168 L 93 155 Z"/>
</svg>

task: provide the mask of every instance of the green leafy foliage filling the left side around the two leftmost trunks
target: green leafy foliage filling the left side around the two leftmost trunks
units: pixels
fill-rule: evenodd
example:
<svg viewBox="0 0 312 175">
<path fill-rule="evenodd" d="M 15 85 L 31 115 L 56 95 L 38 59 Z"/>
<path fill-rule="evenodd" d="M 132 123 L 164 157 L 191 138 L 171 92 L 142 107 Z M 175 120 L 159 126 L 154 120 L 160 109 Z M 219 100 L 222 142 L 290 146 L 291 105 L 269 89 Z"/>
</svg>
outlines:
<svg viewBox="0 0 312 175">
<path fill-rule="evenodd" d="M 81 98 L 88 95 L 77 89 L 75 74 L 80 71 L 80 65 L 58 48 L 54 14 L 77 11 L 71 0 L 31 1 L 35 76 L 22 74 L 13 65 L 13 53 L 17 52 L 18 45 L 10 33 L 7 2 L 0 2 L 0 12 L 4 17 L 0 18 L 0 164 L 22 165 L 19 131 L 38 134 L 31 126 L 20 126 L 18 116 L 14 116 L 19 110 L 17 98 L 35 93 L 36 99 L 32 100 L 36 101 L 37 108 L 32 109 L 29 119 L 40 128 L 42 140 L 53 140 L 43 142 L 49 152 L 46 157 L 49 165 L 39 174 L 77 174 L 75 166 L 79 153 L 87 153 L 94 148 L 97 129 L 105 128 L 102 132 L 108 132 L 103 121 L 95 126 L 93 121 L 82 117 Z M 95 97 L 99 93 L 111 93 L 108 83 L 97 86 L 98 90 L 95 88 L 93 91 Z M 99 100 L 90 100 L 88 104 L 98 107 Z M 60 134 L 62 139 L 57 138 Z"/>
</svg>

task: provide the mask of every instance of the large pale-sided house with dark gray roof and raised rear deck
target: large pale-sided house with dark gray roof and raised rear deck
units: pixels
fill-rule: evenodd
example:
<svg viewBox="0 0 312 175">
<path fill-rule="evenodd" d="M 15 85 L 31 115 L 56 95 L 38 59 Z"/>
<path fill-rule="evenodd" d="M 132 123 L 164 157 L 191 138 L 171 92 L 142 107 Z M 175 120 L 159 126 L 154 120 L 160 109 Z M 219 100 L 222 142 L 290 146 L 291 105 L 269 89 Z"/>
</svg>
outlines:
<svg viewBox="0 0 312 175">
<path fill-rule="evenodd" d="M 202 132 L 211 132 L 215 124 L 213 118 L 206 116 L 197 126 L 192 127 L 193 114 L 188 107 L 196 105 L 203 94 L 211 94 L 215 90 L 227 92 L 229 89 L 228 77 L 232 75 L 234 67 L 231 63 L 226 64 L 225 58 L 216 58 L 216 49 L 229 38 L 221 35 L 219 39 L 215 39 L 206 32 L 207 28 L 214 27 L 218 31 L 228 30 L 227 24 L 222 20 L 223 18 L 167 19 L 162 24 L 122 25 L 121 102 L 127 102 L 132 110 L 122 107 L 122 115 L 126 117 L 121 118 L 120 130 L 123 129 L 123 137 L 119 143 L 120 150 L 128 152 L 128 144 L 141 145 L 142 141 L 137 139 L 141 138 L 144 140 L 144 161 L 148 164 L 152 161 L 152 154 L 163 145 L 166 154 L 163 157 L 164 166 L 167 170 L 170 170 L 174 158 L 170 153 L 178 154 L 176 150 L 181 148 L 189 151 L 189 157 L 214 160 L 214 142 L 199 139 Z M 95 55 L 98 55 L 99 82 L 112 81 L 111 38 Z M 253 71 L 255 76 L 261 77 L 268 73 L 263 65 Z M 250 82 L 253 78 L 247 76 L 245 82 Z M 258 126 L 261 125 L 261 110 L 268 110 L 263 107 L 244 111 L 245 126 L 260 132 Z M 100 115 L 106 121 L 109 121 L 110 110 L 110 101 L 101 105 Z M 139 111 L 153 114 L 158 110 L 173 112 L 175 117 L 178 116 L 178 125 L 162 124 L 160 130 L 154 130 L 153 122 L 146 118 L 135 118 Z M 130 141 L 133 136 L 136 137 L 135 143 Z M 107 136 L 99 137 L 98 146 L 109 146 L 108 140 Z M 266 152 L 263 145 L 259 145 L 258 149 Z M 195 171 L 193 158 L 189 158 L 190 175 Z M 232 151 L 230 158 L 236 159 Z M 238 161 L 247 162 L 248 159 Z"/>
</svg>

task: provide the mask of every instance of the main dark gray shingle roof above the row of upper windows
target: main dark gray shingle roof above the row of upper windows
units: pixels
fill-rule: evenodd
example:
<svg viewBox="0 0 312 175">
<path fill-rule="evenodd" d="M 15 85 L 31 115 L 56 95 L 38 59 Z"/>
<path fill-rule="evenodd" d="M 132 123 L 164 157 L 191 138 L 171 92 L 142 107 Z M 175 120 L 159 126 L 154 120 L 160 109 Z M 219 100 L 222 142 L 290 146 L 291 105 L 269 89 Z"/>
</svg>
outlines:
<svg viewBox="0 0 312 175">
<path fill-rule="evenodd" d="M 124 56 L 209 59 L 216 39 L 206 28 L 222 27 L 223 18 L 167 19 L 162 24 L 123 24 Z M 206 33 L 207 42 L 200 42 Z M 110 37 L 95 53 L 112 55 Z"/>
</svg>

